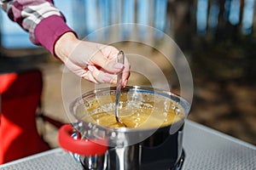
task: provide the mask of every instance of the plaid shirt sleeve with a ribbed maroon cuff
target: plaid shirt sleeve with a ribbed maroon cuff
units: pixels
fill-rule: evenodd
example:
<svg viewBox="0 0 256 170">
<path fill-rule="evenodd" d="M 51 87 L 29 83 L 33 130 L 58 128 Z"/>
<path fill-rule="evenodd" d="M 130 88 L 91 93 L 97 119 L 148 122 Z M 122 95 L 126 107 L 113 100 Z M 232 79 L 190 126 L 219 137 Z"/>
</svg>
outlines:
<svg viewBox="0 0 256 170">
<path fill-rule="evenodd" d="M 0 0 L 0 6 L 11 20 L 29 32 L 30 40 L 54 54 L 54 45 L 61 35 L 72 31 L 52 0 Z"/>
</svg>

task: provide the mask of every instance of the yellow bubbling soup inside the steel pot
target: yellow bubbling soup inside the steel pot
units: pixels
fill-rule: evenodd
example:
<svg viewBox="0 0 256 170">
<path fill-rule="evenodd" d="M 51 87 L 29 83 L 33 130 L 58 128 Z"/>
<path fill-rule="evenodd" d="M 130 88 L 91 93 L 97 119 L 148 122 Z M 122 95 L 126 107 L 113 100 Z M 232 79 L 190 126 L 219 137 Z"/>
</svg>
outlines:
<svg viewBox="0 0 256 170">
<path fill-rule="evenodd" d="M 172 99 L 154 94 L 142 94 L 134 99 L 129 94 L 121 94 L 119 119 L 125 123 L 124 126 L 116 121 L 113 103 L 114 94 L 97 96 L 84 101 L 77 116 L 85 122 L 112 128 L 166 127 L 184 118 L 183 108 Z"/>
</svg>

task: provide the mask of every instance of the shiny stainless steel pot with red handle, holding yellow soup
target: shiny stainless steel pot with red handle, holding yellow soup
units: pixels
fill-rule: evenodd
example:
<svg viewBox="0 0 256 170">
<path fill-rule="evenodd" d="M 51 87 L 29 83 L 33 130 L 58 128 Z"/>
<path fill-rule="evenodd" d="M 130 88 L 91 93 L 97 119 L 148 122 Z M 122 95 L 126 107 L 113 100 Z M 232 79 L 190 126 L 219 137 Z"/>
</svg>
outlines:
<svg viewBox="0 0 256 170">
<path fill-rule="evenodd" d="M 147 122 L 149 118 L 139 127 L 102 126 L 90 116 L 113 112 L 115 88 L 97 89 L 70 105 L 77 122 L 61 127 L 61 147 L 73 153 L 84 169 L 180 169 L 184 159 L 183 122 L 189 114 L 189 103 L 176 94 L 154 88 L 131 86 L 122 88 L 121 93 L 119 109 L 123 117 L 130 118 L 142 105 L 153 106 L 162 113 L 161 121 L 152 127 L 148 127 L 152 123 Z M 174 111 L 174 118 L 179 118 L 163 126 L 166 111 L 170 110 Z"/>
</svg>

